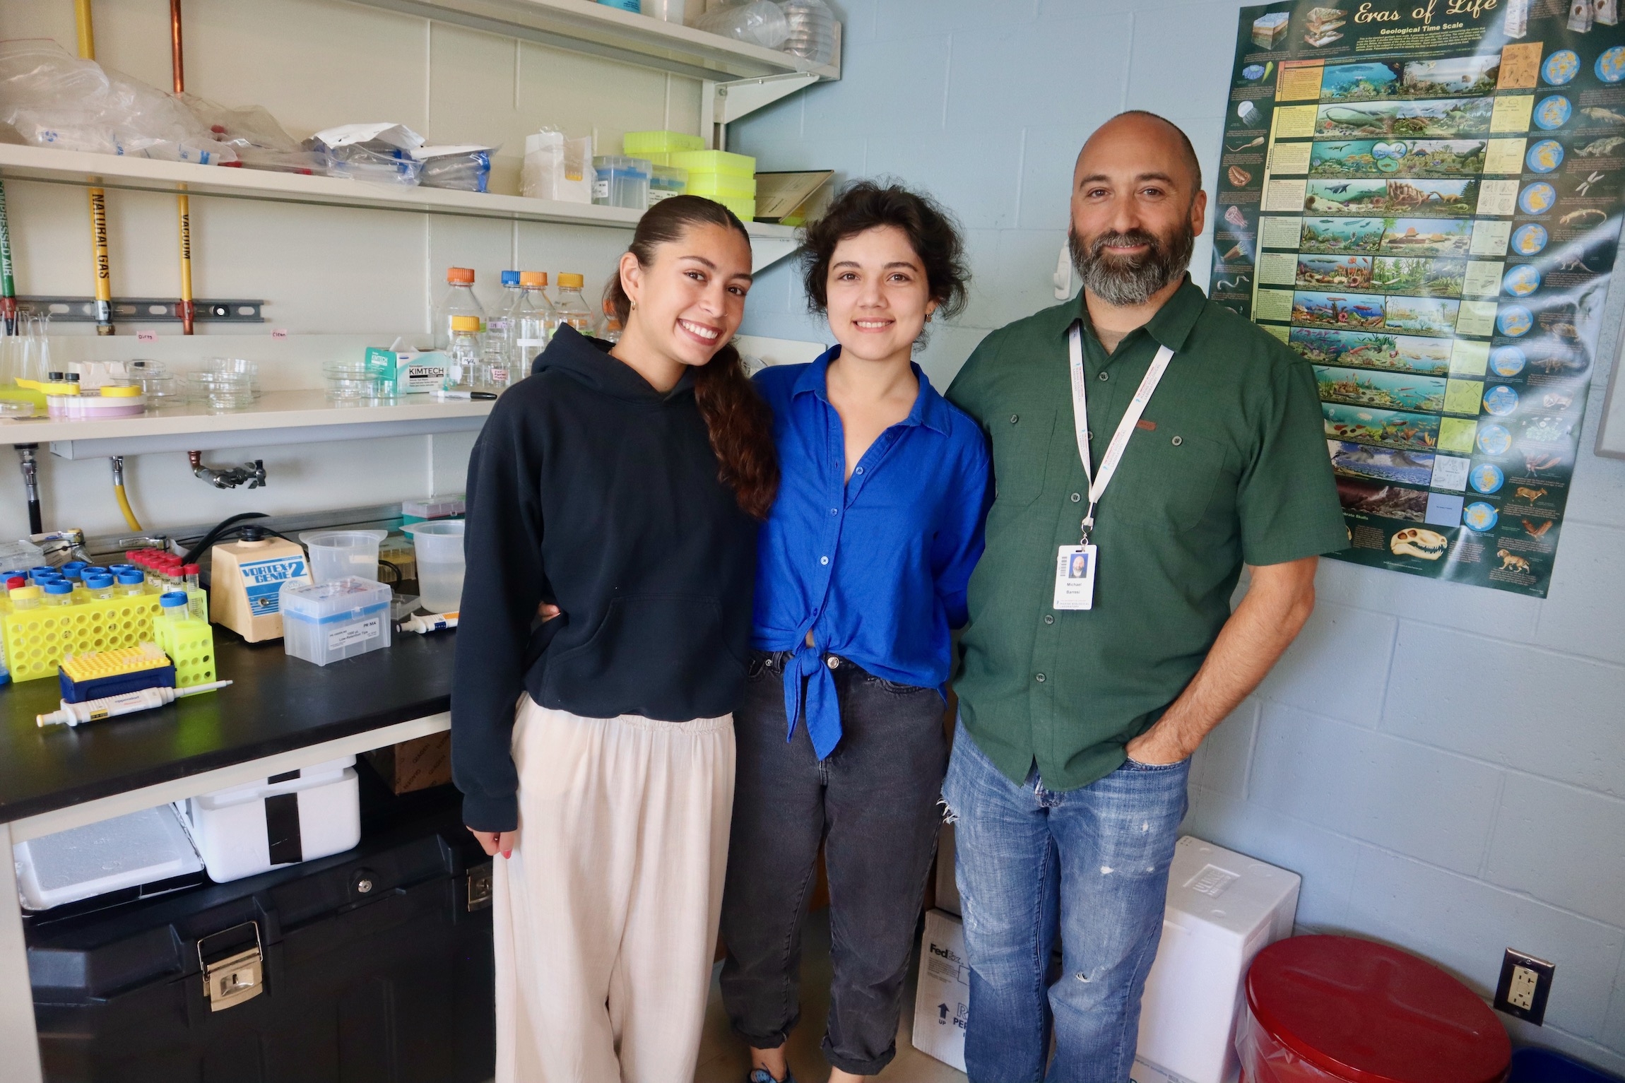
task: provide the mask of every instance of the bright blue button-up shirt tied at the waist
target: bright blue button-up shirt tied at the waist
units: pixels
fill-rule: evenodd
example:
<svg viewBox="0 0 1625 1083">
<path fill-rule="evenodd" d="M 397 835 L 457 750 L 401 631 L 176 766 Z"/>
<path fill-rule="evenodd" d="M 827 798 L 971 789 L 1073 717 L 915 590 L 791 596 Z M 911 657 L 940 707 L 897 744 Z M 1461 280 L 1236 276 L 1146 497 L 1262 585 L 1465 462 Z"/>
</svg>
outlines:
<svg viewBox="0 0 1625 1083">
<path fill-rule="evenodd" d="M 821 760 L 840 742 L 827 654 L 897 684 L 947 680 L 949 628 L 967 619 L 965 586 L 991 500 L 982 429 L 920 365 L 908 417 L 869 445 L 847 481 L 845 435 L 824 378 L 838 356 L 835 346 L 809 365 L 756 375 L 774 409 L 782 479 L 759 542 L 754 645 L 793 651 L 786 739 L 808 679 L 806 726 Z"/>
</svg>

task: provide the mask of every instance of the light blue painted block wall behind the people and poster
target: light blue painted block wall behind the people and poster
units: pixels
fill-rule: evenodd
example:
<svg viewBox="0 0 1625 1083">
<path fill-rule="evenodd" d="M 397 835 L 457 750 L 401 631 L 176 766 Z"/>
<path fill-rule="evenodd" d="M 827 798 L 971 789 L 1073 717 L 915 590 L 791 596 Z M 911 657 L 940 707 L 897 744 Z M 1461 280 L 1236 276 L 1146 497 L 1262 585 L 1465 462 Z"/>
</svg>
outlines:
<svg viewBox="0 0 1625 1083">
<path fill-rule="evenodd" d="M 892 174 L 959 214 L 975 302 L 923 354 L 942 388 L 990 328 L 1055 304 L 1072 157 L 1102 120 L 1176 120 L 1211 190 L 1237 6 L 845 0 L 847 78 L 730 146 Z M 827 339 L 788 265 L 746 330 Z M 1555 961 L 1547 1026 L 1514 1034 L 1625 1073 L 1625 461 L 1591 455 L 1599 369 L 1550 598 L 1324 562 L 1310 627 L 1198 755 L 1188 826 L 1302 874 L 1303 927 L 1398 943 L 1479 992 L 1506 947 Z"/>
</svg>

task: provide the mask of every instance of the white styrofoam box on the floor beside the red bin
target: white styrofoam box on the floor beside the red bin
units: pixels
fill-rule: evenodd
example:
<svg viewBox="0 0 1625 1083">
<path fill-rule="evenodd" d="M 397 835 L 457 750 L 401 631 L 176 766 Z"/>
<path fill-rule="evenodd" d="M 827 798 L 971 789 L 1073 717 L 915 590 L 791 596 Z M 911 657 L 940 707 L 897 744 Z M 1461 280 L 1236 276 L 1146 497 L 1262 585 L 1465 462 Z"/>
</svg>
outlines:
<svg viewBox="0 0 1625 1083">
<path fill-rule="evenodd" d="M 1235 1020 L 1253 956 L 1292 935 L 1302 878 L 1186 835 L 1139 1010 L 1139 1083 L 1235 1083 Z M 1144 1075 L 1144 1078 L 1141 1078 Z"/>
</svg>

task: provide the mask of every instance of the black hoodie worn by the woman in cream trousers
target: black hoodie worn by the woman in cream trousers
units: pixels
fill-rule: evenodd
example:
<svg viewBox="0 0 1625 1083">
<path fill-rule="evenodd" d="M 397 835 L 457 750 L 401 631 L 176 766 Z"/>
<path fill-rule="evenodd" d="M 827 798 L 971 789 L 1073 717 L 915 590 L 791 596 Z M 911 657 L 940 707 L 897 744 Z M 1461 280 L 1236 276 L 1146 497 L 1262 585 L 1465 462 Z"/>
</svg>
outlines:
<svg viewBox="0 0 1625 1083">
<path fill-rule="evenodd" d="M 661 395 L 608 343 L 561 326 L 468 460 L 468 572 L 452 680 L 463 822 L 518 825 L 520 692 L 587 718 L 733 710 L 756 521 L 717 481 L 692 377 Z M 536 606 L 564 615 L 538 623 Z"/>
</svg>

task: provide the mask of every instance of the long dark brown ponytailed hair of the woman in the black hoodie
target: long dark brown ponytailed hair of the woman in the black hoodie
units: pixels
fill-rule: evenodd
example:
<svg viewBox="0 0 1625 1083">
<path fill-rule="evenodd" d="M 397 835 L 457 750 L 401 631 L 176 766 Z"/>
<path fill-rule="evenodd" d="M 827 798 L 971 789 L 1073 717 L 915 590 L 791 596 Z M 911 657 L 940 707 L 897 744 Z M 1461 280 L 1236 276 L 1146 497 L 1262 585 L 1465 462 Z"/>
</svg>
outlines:
<svg viewBox="0 0 1625 1083">
<path fill-rule="evenodd" d="M 744 244 L 751 234 L 722 203 L 697 195 L 661 200 L 644 213 L 632 232 L 627 252 L 639 265 L 655 260 L 655 248 L 681 240 L 694 226 L 722 226 L 738 231 Z M 632 312 L 632 299 L 611 274 L 604 287 L 604 304 L 624 326 Z M 765 520 L 778 495 L 778 456 L 774 453 L 774 419 L 767 403 L 751 386 L 744 360 L 733 343 L 718 349 L 708 362 L 694 370 L 694 403 L 700 408 L 712 451 L 717 455 L 717 477 L 733 489 L 739 507 L 757 520 Z"/>
</svg>

